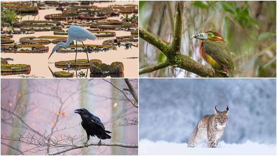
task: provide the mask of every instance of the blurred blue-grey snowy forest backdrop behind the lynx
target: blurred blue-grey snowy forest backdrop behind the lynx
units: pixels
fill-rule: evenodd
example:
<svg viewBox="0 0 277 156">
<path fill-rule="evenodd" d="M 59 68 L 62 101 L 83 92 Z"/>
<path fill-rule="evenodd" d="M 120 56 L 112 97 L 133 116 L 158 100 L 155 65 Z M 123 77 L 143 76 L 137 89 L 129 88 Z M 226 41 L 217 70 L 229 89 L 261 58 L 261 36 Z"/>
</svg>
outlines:
<svg viewBox="0 0 277 156">
<path fill-rule="evenodd" d="M 228 105 L 221 141 L 276 144 L 275 79 L 141 79 L 139 91 L 140 140 L 188 143 L 204 115 Z"/>
</svg>

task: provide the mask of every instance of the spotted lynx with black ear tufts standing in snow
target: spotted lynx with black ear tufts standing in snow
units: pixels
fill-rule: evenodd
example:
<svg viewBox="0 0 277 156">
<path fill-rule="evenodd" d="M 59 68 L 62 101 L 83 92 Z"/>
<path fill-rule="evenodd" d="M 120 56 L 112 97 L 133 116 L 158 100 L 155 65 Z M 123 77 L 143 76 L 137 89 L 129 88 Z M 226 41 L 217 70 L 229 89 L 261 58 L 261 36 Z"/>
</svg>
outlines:
<svg viewBox="0 0 277 156">
<path fill-rule="evenodd" d="M 224 111 L 216 110 L 216 106 L 214 108 L 215 114 L 205 115 L 197 123 L 192 132 L 188 147 L 195 147 L 204 140 L 208 141 L 210 148 L 215 148 L 218 145 L 228 120 L 229 108 L 227 106 Z"/>
</svg>

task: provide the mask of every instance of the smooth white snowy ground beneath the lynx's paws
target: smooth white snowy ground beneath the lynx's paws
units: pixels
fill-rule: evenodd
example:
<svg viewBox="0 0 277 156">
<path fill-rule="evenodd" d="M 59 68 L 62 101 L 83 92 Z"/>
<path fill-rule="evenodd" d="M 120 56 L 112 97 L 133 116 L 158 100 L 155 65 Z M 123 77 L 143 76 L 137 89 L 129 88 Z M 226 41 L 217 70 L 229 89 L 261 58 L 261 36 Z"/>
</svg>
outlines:
<svg viewBox="0 0 277 156">
<path fill-rule="evenodd" d="M 204 147 L 204 148 L 203 148 Z M 206 148 L 201 144 L 196 148 L 187 148 L 187 143 L 169 143 L 165 141 L 151 142 L 140 140 L 140 155 L 275 155 L 275 144 L 259 144 L 246 141 L 243 144 L 219 143 L 218 148 Z"/>
</svg>

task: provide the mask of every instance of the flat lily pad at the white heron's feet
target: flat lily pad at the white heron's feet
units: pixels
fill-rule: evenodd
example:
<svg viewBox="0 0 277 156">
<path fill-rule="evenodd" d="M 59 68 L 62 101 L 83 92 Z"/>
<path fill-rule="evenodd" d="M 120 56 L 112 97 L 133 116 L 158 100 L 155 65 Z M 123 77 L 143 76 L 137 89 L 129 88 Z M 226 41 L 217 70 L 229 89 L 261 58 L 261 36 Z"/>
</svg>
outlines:
<svg viewBox="0 0 277 156">
<path fill-rule="evenodd" d="M 90 66 L 90 63 L 98 63 L 102 64 L 101 60 L 92 59 L 89 61 L 87 59 L 77 59 L 75 60 L 69 60 L 69 61 L 58 61 L 55 62 L 55 67 L 57 68 L 65 68 L 65 67 L 80 67 L 82 69 L 87 69 Z"/>
</svg>

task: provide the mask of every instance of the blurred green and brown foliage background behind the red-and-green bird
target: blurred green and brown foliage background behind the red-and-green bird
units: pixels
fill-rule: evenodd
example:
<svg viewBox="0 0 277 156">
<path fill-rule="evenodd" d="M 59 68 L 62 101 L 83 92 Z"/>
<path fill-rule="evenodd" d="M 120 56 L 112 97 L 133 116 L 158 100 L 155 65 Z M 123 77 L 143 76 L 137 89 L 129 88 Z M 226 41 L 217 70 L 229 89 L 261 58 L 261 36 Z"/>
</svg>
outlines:
<svg viewBox="0 0 277 156">
<path fill-rule="evenodd" d="M 170 2 L 173 13 L 176 2 Z M 199 54 L 200 41 L 191 36 L 205 30 L 220 32 L 230 52 L 236 77 L 276 76 L 276 2 L 236 1 L 186 2 L 181 53 L 206 64 Z M 167 2 L 140 2 L 140 27 L 172 42 Z M 140 68 L 165 61 L 166 56 L 140 38 Z M 196 77 L 176 67 L 167 67 L 142 77 Z"/>
</svg>

